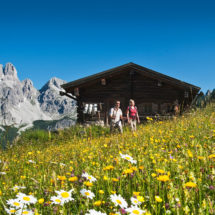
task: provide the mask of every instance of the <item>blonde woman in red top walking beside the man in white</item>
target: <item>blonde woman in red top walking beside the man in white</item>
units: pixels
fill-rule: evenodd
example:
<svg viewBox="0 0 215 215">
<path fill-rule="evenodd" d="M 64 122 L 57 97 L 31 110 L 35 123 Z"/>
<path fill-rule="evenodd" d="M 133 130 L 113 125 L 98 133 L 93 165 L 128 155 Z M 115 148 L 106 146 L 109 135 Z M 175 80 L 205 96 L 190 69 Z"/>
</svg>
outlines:
<svg viewBox="0 0 215 215">
<path fill-rule="evenodd" d="M 127 108 L 127 120 L 131 126 L 131 130 L 136 131 L 137 122 L 140 123 L 140 118 L 133 99 L 130 99 L 129 101 L 129 106 Z"/>
</svg>

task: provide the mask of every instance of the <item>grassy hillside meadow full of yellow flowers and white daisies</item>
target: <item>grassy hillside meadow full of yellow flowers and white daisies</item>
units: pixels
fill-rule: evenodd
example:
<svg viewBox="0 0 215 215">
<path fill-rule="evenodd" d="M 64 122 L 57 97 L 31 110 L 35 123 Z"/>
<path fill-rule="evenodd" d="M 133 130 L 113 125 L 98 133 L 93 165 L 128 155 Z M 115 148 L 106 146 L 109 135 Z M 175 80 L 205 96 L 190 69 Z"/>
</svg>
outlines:
<svg viewBox="0 0 215 215">
<path fill-rule="evenodd" d="M 11 214 L 22 203 L 29 210 L 19 214 L 214 214 L 214 108 L 149 119 L 133 134 L 99 127 L 23 133 L 0 154 L 1 214 L 9 199 Z"/>
</svg>

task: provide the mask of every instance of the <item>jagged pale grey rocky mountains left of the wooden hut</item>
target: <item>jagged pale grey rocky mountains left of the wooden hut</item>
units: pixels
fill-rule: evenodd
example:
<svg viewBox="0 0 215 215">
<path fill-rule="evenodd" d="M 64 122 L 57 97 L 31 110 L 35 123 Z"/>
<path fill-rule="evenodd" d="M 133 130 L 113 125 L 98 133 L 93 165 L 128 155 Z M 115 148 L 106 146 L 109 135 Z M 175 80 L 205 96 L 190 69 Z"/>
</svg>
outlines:
<svg viewBox="0 0 215 215">
<path fill-rule="evenodd" d="M 59 95 L 63 83 L 52 78 L 38 91 L 30 79 L 18 79 L 13 64 L 0 65 L 0 125 L 30 127 L 37 120 L 74 118 L 75 102 Z"/>
</svg>

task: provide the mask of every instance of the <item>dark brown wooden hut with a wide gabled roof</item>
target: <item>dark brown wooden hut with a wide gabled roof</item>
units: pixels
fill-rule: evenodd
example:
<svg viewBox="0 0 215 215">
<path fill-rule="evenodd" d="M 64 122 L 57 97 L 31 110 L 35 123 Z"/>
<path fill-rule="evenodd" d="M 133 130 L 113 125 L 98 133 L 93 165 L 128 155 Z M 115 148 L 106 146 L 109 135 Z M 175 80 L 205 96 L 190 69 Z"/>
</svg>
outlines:
<svg viewBox="0 0 215 215">
<path fill-rule="evenodd" d="M 62 85 L 69 96 L 77 100 L 78 120 L 104 120 L 116 100 L 126 111 L 129 99 L 134 99 L 140 117 L 171 114 L 178 103 L 181 110 L 191 104 L 200 88 L 158 73 L 146 67 L 128 63 Z"/>
</svg>

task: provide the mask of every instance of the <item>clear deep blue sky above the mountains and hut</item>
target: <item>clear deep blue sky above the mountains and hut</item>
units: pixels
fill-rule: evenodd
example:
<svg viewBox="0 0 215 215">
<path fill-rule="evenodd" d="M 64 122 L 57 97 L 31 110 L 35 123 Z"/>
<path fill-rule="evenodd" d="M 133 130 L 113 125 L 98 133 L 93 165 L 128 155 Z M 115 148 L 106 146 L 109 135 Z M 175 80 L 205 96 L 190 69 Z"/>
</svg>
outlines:
<svg viewBox="0 0 215 215">
<path fill-rule="evenodd" d="M 215 88 L 214 1 L 0 0 L 0 63 L 41 88 L 134 62 Z"/>
</svg>

